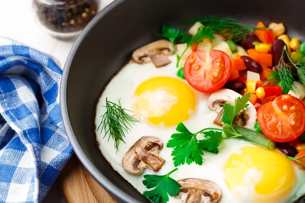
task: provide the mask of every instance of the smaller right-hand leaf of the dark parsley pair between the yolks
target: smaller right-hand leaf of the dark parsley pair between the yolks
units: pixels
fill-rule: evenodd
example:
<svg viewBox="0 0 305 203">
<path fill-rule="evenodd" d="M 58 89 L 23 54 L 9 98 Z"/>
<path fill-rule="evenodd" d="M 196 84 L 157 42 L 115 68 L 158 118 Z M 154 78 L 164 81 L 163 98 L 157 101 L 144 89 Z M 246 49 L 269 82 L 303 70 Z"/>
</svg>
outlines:
<svg viewBox="0 0 305 203">
<path fill-rule="evenodd" d="M 199 147 L 208 152 L 218 154 L 218 147 L 224 140 L 222 137 L 222 132 L 209 130 L 202 133 L 205 134 L 205 139 L 199 141 Z"/>
</svg>

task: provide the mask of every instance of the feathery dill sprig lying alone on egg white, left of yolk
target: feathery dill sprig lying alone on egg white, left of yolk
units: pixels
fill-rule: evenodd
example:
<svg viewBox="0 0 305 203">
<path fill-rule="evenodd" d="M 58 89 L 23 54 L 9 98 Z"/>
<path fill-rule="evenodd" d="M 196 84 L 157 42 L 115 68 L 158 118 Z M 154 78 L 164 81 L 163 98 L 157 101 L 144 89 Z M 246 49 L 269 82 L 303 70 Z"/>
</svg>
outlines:
<svg viewBox="0 0 305 203">
<path fill-rule="evenodd" d="M 118 104 L 115 104 L 108 101 L 106 97 L 106 106 L 104 107 L 106 107 L 106 113 L 101 116 L 102 120 L 97 130 L 101 129 L 101 133 L 105 132 L 103 139 L 109 134 L 107 142 L 112 138 L 114 140 L 114 148 L 118 152 L 119 142 L 125 143 L 125 132 L 128 132 L 132 125 L 139 122 L 139 120 L 126 113 L 131 111 L 121 107 L 120 99 L 118 99 Z"/>
</svg>

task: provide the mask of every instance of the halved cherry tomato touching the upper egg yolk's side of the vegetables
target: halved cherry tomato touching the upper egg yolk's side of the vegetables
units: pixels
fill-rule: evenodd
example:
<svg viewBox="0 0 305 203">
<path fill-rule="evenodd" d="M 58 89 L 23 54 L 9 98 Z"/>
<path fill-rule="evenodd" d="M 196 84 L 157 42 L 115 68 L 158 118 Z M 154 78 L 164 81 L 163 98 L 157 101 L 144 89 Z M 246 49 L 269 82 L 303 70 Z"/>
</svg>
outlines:
<svg viewBox="0 0 305 203">
<path fill-rule="evenodd" d="M 188 83 L 201 92 L 214 92 L 229 80 L 232 71 L 231 57 L 219 50 L 194 51 L 184 65 Z"/>
</svg>

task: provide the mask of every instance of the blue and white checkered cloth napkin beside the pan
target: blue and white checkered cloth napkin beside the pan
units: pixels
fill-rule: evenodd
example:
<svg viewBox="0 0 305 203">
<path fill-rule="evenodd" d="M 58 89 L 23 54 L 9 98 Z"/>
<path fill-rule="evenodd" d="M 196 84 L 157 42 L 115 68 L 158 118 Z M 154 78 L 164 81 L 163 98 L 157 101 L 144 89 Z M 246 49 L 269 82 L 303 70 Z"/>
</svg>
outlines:
<svg viewBox="0 0 305 203">
<path fill-rule="evenodd" d="M 0 38 L 0 202 L 40 202 L 73 153 L 61 77 L 50 57 Z"/>
</svg>

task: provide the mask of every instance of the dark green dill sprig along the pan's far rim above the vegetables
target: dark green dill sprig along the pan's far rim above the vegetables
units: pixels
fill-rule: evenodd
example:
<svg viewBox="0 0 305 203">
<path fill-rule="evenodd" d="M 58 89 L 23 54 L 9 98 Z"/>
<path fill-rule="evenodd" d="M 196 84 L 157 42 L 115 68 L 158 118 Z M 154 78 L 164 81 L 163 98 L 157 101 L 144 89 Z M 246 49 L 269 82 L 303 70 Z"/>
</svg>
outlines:
<svg viewBox="0 0 305 203">
<path fill-rule="evenodd" d="M 245 38 L 253 31 L 259 29 L 268 29 L 266 27 L 257 28 L 250 25 L 242 24 L 232 18 L 216 18 L 216 17 L 199 17 L 193 18 L 186 23 L 195 23 L 199 21 L 204 26 L 216 30 L 216 32 L 224 37 L 237 43 L 245 40 Z"/>
</svg>

